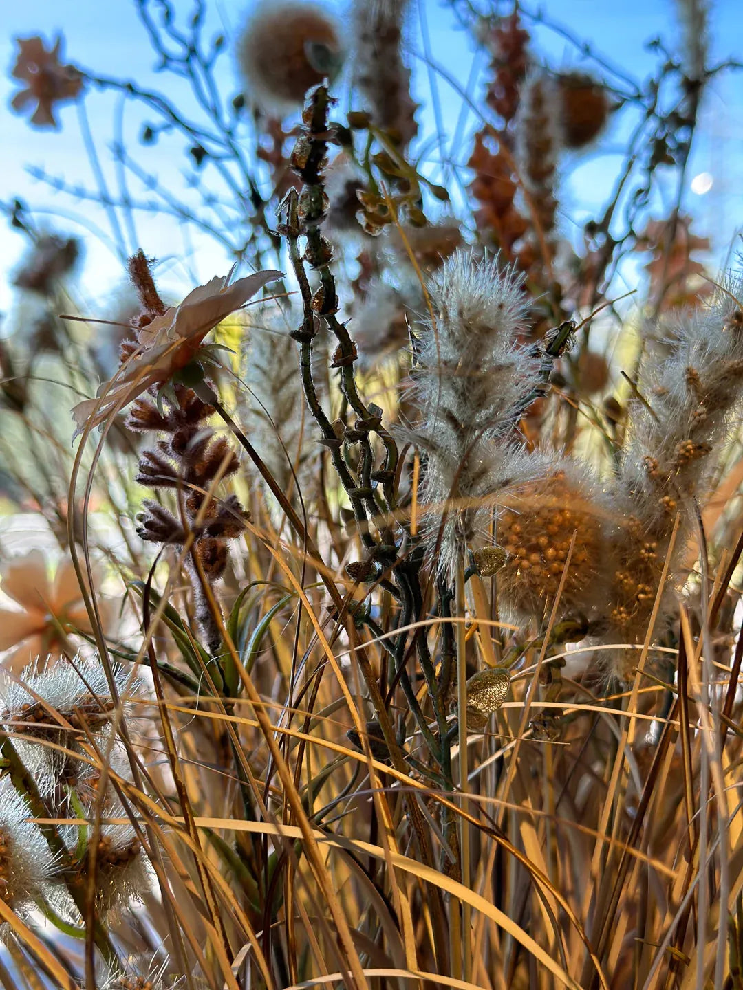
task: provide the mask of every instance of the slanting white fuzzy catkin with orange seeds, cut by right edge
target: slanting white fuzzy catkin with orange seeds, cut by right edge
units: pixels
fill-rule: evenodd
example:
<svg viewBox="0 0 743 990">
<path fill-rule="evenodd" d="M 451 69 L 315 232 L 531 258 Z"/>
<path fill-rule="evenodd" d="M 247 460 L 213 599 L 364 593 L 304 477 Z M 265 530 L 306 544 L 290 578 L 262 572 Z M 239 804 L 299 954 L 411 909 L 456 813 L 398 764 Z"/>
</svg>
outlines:
<svg viewBox="0 0 743 990">
<path fill-rule="evenodd" d="M 695 526 L 714 453 L 743 397 L 743 281 L 728 280 L 710 303 L 678 318 L 665 346 L 647 357 L 632 406 L 619 497 L 627 520 L 618 547 L 608 609 L 613 642 L 642 643 L 677 514 L 656 634 L 675 611 L 674 584 Z M 643 401 L 644 400 L 644 401 Z M 621 669 L 620 675 L 626 673 Z"/>
</svg>

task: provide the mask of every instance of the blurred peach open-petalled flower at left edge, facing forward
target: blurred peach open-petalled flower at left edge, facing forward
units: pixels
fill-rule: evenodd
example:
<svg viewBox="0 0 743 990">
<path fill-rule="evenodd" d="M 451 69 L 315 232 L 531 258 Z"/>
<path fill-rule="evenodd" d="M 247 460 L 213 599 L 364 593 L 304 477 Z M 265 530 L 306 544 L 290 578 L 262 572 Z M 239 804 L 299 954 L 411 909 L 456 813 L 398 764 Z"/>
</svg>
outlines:
<svg viewBox="0 0 743 990">
<path fill-rule="evenodd" d="M 37 656 L 61 652 L 64 632 L 91 633 L 90 620 L 72 561 L 60 561 L 50 579 L 45 554 L 38 549 L 0 565 L 0 591 L 22 611 L 0 608 L 0 651 L 19 648 L 2 665 L 19 673 Z"/>
</svg>

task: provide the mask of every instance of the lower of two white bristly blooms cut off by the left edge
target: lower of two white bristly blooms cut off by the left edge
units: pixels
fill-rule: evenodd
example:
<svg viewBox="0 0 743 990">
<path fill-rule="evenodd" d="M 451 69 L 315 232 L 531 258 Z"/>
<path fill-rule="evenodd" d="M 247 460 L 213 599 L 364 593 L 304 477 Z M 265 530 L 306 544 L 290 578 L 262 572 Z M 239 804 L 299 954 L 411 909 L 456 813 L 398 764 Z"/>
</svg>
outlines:
<svg viewBox="0 0 743 990">
<path fill-rule="evenodd" d="M 0 782 L 0 897 L 16 913 L 33 907 L 53 874 L 54 861 L 26 802 Z"/>
</svg>

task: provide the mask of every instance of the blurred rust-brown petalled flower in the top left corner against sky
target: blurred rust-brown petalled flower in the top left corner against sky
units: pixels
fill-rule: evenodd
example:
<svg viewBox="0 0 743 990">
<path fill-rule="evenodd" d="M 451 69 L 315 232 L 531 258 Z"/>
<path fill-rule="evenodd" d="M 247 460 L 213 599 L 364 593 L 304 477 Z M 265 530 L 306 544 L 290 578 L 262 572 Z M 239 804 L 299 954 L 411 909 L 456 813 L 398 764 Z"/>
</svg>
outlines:
<svg viewBox="0 0 743 990">
<path fill-rule="evenodd" d="M 17 38 L 18 57 L 11 75 L 25 83 L 11 100 L 18 113 L 36 104 L 31 116 L 35 127 L 56 128 L 54 107 L 76 99 L 82 91 L 82 75 L 73 65 L 61 62 L 61 38 L 56 38 L 52 49 L 46 49 L 43 39 Z"/>
</svg>

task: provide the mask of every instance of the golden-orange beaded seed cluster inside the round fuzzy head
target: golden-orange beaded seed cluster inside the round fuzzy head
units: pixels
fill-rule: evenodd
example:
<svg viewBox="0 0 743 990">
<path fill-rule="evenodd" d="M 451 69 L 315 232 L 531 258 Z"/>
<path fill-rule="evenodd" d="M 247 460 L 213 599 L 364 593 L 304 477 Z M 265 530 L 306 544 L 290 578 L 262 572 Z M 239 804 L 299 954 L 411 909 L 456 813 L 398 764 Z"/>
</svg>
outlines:
<svg viewBox="0 0 743 990">
<path fill-rule="evenodd" d="M 602 556 L 601 521 L 563 472 L 522 486 L 498 522 L 506 560 L 498 586 L 519 610 L 537 614 L 555 599 L 573 536 L 576 545 L 563 589 L 566 610 L 584 610 L 584 590 Z"/>
</svg>

